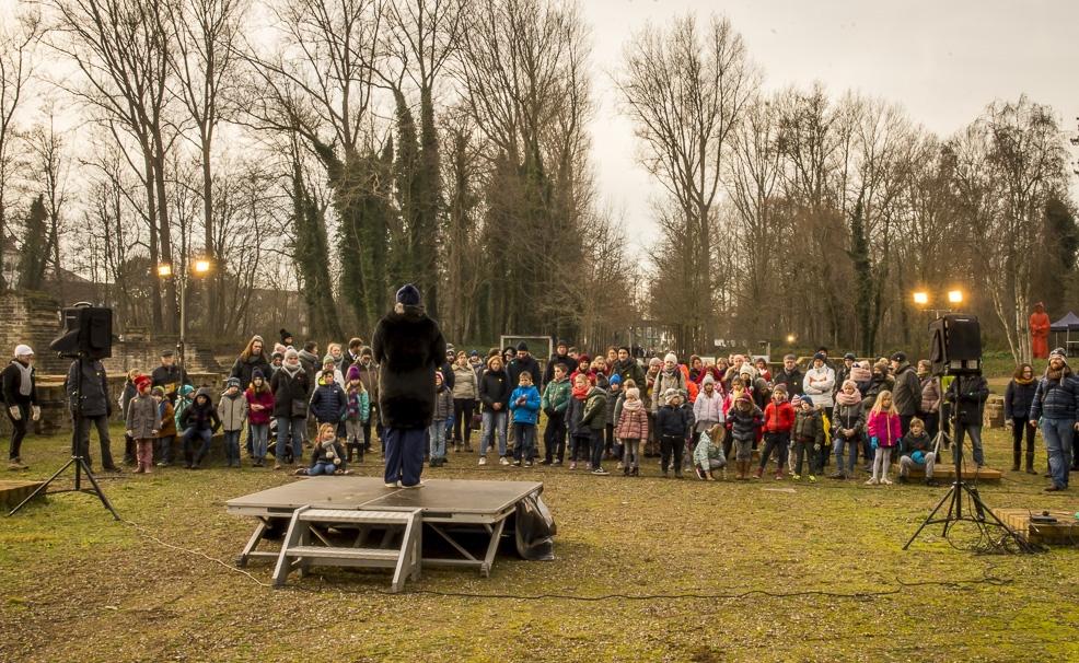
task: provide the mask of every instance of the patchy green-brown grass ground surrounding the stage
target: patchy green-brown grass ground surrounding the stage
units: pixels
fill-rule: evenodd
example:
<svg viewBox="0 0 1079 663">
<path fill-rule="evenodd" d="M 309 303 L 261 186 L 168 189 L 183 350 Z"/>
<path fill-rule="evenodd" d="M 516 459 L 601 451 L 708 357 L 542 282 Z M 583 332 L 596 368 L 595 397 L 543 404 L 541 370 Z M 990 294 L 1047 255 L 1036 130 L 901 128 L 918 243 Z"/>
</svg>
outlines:
<svg viewBox="0 0 1079 663">
<path fill-rule="evenodd" d="M 1008 444 L 988 435 L 990 465 L 1010 464 Z M 30 440 L 28 475 L 66 451 Z M 1079 549 L 974 555 L 939 531 L 901 549 L 944 488 L 706 485 L 658 469 L 593 477 L 451 455 L 426 476 L 544 481 L 557 560 L 500 558 L 489 579 L 425 570 L 403 595 L 382 574 L 316 570 L 272 590 L 265 562 L 231 570 L 252 523 L 224 501 L 292 477 L 109 477 L 130 523 L 72 495 L 0 521 L 0 660 L 1079 660 Z M 381 468 L 369 457 L 359 473 Z M 1075 490 L 1006 476 L 982 487 L 994 507 L 1079 510 Z"/>
</svg>

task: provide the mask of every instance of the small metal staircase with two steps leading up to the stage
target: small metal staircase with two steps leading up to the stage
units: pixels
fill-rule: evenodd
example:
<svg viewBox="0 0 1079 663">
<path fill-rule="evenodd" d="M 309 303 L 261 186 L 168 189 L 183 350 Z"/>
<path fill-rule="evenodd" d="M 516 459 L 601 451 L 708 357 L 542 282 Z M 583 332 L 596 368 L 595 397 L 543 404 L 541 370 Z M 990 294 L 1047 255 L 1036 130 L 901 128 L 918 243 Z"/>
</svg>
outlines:
<svg viewBox="0 0 1079 663">
<path fill-rule="evenodd" d="M 402 591 L 405 580 L 420 575 L 421 512 L 297 509 L 274 569 L 274 586 L 283 586 L 294 570 L 303 577 L 313 566 L 359 567 L 393 569 L 391 591 Z"/>
</svg>

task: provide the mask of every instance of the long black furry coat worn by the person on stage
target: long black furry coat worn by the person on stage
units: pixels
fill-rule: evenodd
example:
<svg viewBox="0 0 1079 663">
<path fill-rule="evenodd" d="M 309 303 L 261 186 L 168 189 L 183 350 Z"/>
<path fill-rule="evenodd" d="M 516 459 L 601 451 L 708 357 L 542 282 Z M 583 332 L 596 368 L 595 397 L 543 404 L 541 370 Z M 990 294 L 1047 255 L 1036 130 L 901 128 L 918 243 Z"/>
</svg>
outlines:
<svg viewBox="0 0 1079 663">
<path fill-rule="evenodd" d="M 434 417 L 434 372 L 445 361 L 445 337 L 422 306 L 398 310 L 379 321 L 371 342 L 379 364 L 379 415 L 388 428 L 427 428 Z"/>
</svg>

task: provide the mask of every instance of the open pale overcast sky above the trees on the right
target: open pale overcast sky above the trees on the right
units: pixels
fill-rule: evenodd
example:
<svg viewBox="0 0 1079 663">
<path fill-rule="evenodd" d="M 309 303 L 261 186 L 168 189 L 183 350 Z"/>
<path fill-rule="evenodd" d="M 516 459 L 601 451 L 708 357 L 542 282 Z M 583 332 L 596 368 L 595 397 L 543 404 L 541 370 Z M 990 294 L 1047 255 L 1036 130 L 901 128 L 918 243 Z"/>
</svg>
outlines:
<svg viewBox="0 0 1079 663">
<path fill-rule="evenodd" d="M 611 84 L 626 38 L 646 23 L 716 12 L 730 18 L 765 86 L 822 81 L 902 104 L 948 136 L 994 100 L 1026 93 L 1075 131 L 1079 2 L 1074 0 L 581 0 L 592 26 L 594 162 L 600 193 L 625 216 L 633 244 L 654 236 L 658 189 L 635 159 L 633 126 Z M 1075 188 L 1075 187 L 1074 187 Z"/>
</svg>

